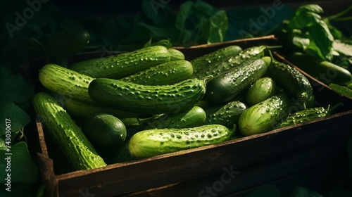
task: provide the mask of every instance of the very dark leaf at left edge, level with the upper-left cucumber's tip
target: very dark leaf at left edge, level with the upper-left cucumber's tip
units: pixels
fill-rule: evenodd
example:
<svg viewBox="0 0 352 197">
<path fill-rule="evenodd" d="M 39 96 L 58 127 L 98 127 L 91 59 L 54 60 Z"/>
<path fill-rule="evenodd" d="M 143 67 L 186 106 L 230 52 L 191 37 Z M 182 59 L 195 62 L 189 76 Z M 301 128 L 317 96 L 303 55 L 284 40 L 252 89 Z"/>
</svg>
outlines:
<svg viewBox="0 0 352 197">
<path fill-rule="evenodd" d="M 0 65 L 0 76 L 0 101 L 24 103 L 30 99 L 33 86 L 22 75 L 14 75 L 6 66 Z"/>
</svg>

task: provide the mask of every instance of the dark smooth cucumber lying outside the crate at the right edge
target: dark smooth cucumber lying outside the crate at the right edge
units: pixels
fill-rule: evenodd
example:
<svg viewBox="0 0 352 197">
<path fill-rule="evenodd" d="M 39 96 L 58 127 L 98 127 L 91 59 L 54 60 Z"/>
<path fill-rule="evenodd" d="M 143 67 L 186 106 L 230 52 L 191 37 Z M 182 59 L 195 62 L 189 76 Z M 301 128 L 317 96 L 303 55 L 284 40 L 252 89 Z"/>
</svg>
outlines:
<svg viewBox="0 0 352 197">
<path fill-rule="evenodd" d="M 347 69 L 308 54 L 296 52 L 290 54 L 287 59 L 308 75 L 325 84 L 343 85 L 352 80 L 352 74 Z"/>
</svg>

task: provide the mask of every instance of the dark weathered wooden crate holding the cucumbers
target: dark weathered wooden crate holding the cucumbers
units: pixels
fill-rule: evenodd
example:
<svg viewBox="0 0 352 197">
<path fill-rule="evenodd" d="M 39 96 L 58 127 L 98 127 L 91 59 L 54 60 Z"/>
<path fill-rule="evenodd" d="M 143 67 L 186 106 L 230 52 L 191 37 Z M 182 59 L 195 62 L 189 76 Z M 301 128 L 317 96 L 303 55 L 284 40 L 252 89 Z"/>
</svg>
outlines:
<svg viewBox="0 0 352 197">
<path fill-rule="evenodd" d="M 275 37 L 264 37 L 263 39 L 239 40 L 234 43 L 246 48 L 259 44 L 273 45 L 276 44 L 276 39 Z M 223 45 L 220 43 L 210 47 L 213 47 L 213 50 L 215 50 L 221 46 Z M 186 53 L 186 55 L 191 53 L 187 52 L 189 49 L 180 50 L 183 50 L 182 52 Z M 208 49 L 206 46 L 202 46 L 196 49 L 194 54 L 200 54 L 202 50 Z M 203 53 L 210 51 L 212 50 Z M 71 58 L 69 62 L 94 57 L 101 57 L 101 53 L 83 53 Z M 30 75 L 27 77 L 29 77 L 29 80 L 36 82 L 38 69 L 43 65 L 44 62 L 41 60 L 32 61 L 24 65 L 23 70 L 30 71 Z M 36 88 L 40 89 L 39 82 L 35 84 L 38 84 L 39 87 Z M 309 157 L 309 153 L 317 153 L 322 156 L 324 152 L 321 151 L 331 152 L 335 150 L 333 148 L 335 146 L 325 145 L 332 143 L 340 144 L 351 134 L 351 130 L 344 128 L 352 128 L 352 104 L 350 99 L 335 94 L 329 89 L 320 89 L 320 86 L 315 86 L 314 90 L 317 101 L 322 105 L 341 101 L 344 103 L 344 108 L 340 108 L 339 112 L 334 115 L 319 120 L 276 129 L 265 134 L 247 136 L 221 144 L 192 148 L 186 151 L 178 151 L 151 158 L 116 163 L 94 170 L 80 170 L 75 172 L 70 171 L 69 168 L 63 171 L 56 170 L 57 165 L 55 161 L 65 160 L 65 158 L 63 158 L 63 155 L 51 143 L 49 137 L 45 135 L 45 130 L 43 130 L 41 122 L 37 120 L 37 132 L 41 150 L 37 153 L 37 158 L 42 178 L 46 184 L 46 191 L 49 196 L 123 196 L 132 195 L 132 193 L 144 193 L 143 191 L 148 191 L 149 189 L 167 191 L 160 188 L 171 189 L 170 185 L 177 186 L 178 183 L 182 182 L 196 183 L 196 180 L 199 179 L 216 177 L 216 174 L 224 173 L 225 167 L 230 170 L 246 169 L 246 167 L 251 169 L 251 166 L 260 164 L 256 166 L 256 169 L 260 171 L 263 170 L 260 169 L 262 163 L 270 160 L 272 163 L 276 163 L 274 161 L 282 158 L 284 155 L 287 157 L 286 160 L 294 157 L 298 160 L 300 151 L 308 151 L 305 154 L 306 157 Z M 315 148 L 312 149 L 312 147 Z M 319 160 L 321 159 L 319 158 Z M 281 160 L 285 161 L 285 158 Z M 314 162 L 311 164 L 313 165 Z M 295 172 L 307 165 L 293 166 L 294 163 L 290 165 L 289 172 Z M 251 174 L 252 177 L 254 175 Z M 246 179 L 248 178 L 246 177 Z M 264 180 L 275 178 L 277 177 L 272 174 L 272 176 L 263 177 L 262 181 L 256 182 L 256 184 L 261 184 Z M 237 181 L 241 182 L 241 179 Z M 242 189 L 256 184 L 244 184 Z M 201 188 L 203 186 L 206 185 L 201 185 Z M 183 187 L 184 194 L 195 192 L 192 189 L 193 187 Z M 179 190 L 182 189 L 179 188 Z M 162 194 L 163 196 L 172 196 L 172 193 L 174 191 L 171 189 Z"/>
</svg>

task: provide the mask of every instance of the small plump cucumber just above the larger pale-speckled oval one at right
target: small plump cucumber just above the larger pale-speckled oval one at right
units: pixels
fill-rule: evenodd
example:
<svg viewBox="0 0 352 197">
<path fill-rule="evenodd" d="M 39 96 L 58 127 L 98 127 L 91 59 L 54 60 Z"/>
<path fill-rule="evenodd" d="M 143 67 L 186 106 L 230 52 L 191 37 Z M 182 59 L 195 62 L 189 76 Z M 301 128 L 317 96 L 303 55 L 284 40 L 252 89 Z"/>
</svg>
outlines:
<svg viewBox="0 0 352 197">
<path fill-rule="evenodd" d="M 246 92 L 246 103 L 249 106 L 254 106 L 277 92 L 276 83 L 270 77 L 262 77 L 256 80 Z"/>
</svg>

